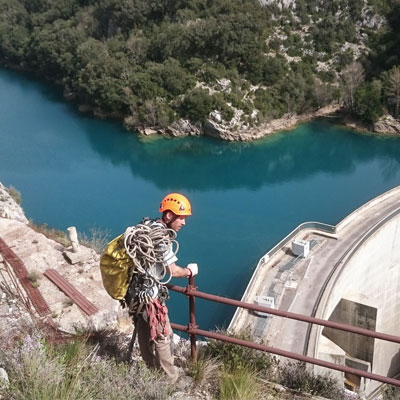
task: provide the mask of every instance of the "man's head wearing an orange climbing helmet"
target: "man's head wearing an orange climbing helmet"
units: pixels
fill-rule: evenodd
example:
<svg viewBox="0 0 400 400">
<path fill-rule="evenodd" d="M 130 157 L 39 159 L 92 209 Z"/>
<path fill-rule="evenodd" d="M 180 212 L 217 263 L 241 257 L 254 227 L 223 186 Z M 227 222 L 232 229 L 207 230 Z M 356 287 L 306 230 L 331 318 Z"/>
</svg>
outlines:
<svg viewBox="0 0 400 400">
<path fill-rule="evenodd" d="M 186 217 L 192 215 L 189 200 L 180 193 L 169 193 L 161 201 L 160 212 L 165 224 L 178 232 L 186 223 Z"/>
</svg>

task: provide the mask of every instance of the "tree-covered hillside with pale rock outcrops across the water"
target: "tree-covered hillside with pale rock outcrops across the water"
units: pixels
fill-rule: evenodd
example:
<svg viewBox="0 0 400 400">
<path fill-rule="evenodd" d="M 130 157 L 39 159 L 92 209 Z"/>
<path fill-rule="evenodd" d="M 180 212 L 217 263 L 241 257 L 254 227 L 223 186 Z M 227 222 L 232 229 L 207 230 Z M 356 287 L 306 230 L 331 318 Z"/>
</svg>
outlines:
<svg viewBox="0 0 400 400">
<path fill-rule="evenodd" d="M 400 113 L 399 26 L 398 0 L 0 0 L 0 64 L 132 128 L 338 101 L 374 122 Z"/>
</svg>

